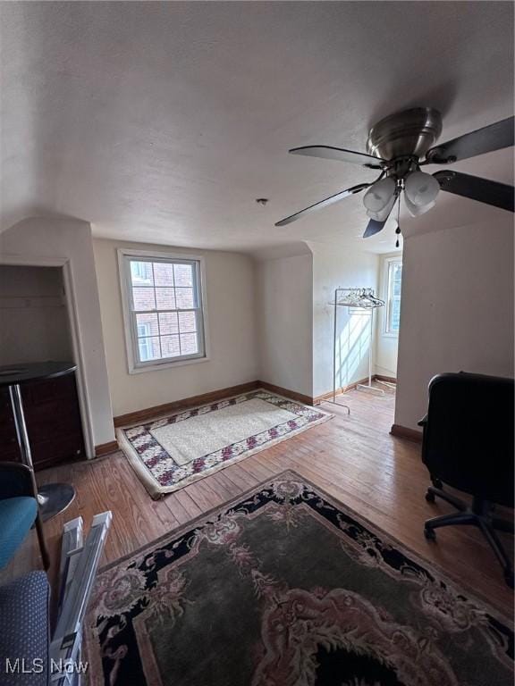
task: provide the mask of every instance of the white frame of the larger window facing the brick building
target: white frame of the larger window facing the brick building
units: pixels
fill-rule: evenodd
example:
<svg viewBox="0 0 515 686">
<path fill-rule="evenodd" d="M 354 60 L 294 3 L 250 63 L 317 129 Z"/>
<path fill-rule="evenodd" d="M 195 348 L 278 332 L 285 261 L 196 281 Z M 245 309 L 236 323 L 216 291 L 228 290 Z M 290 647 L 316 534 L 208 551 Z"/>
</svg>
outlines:
<svg viewBox="0 0 515 686">
<path fill-rule="evenodd" d="M 207 298 L 206 298 L 206 264 L 201 255 L 187 255 L 164 251 L 133 250 L 129 248 L 118 249 L 118 272 L 120 277 L 120 290 L 122 296 L 123 326 L 125 333 L 125 347 L 127 350 L 127 365 L 130 374 L 141 372 L 154 372 L 183 364 L 196 364 L 209 360 L 209 340 L 207 335 Z M 132 309 L 132 280 L 131 261 L 140 258 L 143 261 L 174 262 L 182 264 L 195 264 L 196 280 L 194 289 L 198 299 L 198 353 L 189 356 L 165 357 L 159 360 L 139 362 L 138 336 L 136 314 Z M 148 313 L 159 310 L 148 310 Z"/>
</svg>

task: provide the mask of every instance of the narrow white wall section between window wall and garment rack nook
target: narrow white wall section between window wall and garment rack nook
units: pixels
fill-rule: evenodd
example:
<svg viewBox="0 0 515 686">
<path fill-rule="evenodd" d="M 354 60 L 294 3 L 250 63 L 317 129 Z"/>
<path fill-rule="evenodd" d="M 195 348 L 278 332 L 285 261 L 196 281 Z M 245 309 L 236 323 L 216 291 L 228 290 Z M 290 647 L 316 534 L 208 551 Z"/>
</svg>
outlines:
<svg viewBox="0 0 515 686">
<path fill-rule="evenodd" d="M 257 269 L 259 379 L 312 397 L 312 256 L 259 261 Z"/>
</svg>

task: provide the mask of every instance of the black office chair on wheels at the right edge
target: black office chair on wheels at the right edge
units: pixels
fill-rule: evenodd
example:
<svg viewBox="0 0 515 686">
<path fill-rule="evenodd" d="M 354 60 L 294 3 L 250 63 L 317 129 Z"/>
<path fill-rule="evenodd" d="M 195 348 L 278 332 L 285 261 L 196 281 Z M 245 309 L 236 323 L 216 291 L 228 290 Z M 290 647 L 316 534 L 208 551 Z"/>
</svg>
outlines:
<svg viewBox="0 0 515 686">
<path fill-rule="evenodd" d="M 513 507 L 514 391 L 512 379 L 466 372 L 438 374 L 429 383 L 422 461 L 433 486 L 426 500 L 443 498 L 459 512 L 428 519 L 424 533 L 448 524 L 474 524 L 494 549 L 513 588 L 513 566 L 495 530 L 513 533 L 513 522 L 494 516 L 494 504 Z M 469 493 L 467 506 L 443 490 L 443 483 Z"/>
</svg>

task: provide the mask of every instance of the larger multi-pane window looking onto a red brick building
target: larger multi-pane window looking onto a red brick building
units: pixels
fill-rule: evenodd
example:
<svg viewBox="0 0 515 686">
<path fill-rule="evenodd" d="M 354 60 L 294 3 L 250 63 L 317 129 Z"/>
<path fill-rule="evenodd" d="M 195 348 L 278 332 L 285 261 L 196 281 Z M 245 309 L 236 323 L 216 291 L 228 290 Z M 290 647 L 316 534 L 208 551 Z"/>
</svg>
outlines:
<svg viewBox="0 0 515 686">
<path fill-rule="evenodd" d="M 201 260 L 119 251 L 129 371 L 206 358 Z"/>
</svg>

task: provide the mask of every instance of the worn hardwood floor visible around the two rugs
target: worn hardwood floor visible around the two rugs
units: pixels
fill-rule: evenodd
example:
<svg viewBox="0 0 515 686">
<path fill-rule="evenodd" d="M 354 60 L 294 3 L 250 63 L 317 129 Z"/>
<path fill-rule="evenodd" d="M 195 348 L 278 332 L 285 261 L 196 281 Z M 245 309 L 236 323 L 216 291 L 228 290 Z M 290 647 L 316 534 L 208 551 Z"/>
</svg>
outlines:
<svg viewBox="0 0 515 686">
<path fill-rule="evenodd" d="M 351 408 L 350 416 L 344 409 L 324 403 L 323 408 L 335 415 L 331 421 L 159 501 L 149 498 L 121 452 L 38 473 L 39 483 L 68 481 L 77 491 L 72 506 L 46 523 L 50 553 L 55 560 L 49 572 L 51 581 L 55 584 L 63 523 L 73 517 L 81 515 L 89 528 L 93 515 L 106 509 L 113 511 L 104 554 L 107 563 L 223 505 L 259 482 L 292 469 L 510 614 L 513 594 L 504 584 L 494 554 L 476 529 L 449 527 L 438 531 L 436 542 L 424 538 L 424 520 L 452 508 L 442 502 L 426 503 L 428 475 L 420 461 L 420 446 L 389 434 L 393 393 L 377 397 L 352 390 L 345 395 L 345 402 Z M 503 536 L 502 540 L 511 549 L 511 537 Z M 38 566 L 34 533 L 0 578 Z"/>
</svg>

